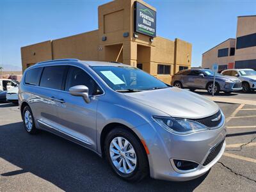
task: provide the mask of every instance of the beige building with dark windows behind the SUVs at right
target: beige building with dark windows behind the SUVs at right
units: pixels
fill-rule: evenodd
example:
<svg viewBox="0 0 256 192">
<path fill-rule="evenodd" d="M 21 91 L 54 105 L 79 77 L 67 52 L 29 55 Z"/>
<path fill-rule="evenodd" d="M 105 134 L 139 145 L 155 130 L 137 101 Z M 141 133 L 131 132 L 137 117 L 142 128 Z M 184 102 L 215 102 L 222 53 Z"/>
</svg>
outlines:
<svg viewBox="0 0 256 192">
<path fill-rule="evenodd" d="M 237 17 L 236 38 L 229 38 L 202 54 L 202 67 L 219 70 L 253 68 L 256 70 L 256 15 Z"/>
</svg>

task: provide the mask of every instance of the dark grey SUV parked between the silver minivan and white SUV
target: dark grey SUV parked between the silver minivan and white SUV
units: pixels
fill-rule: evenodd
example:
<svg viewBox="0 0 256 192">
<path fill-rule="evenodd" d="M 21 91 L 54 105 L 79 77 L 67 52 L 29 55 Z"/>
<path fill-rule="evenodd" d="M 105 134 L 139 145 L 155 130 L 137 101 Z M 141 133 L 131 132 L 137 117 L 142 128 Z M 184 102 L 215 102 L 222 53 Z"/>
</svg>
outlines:
<svg viewBox="0 0 256 192">
<path fill-rule="evenodd" d="M 213 88 L 214 72 L 210 69 L 188 69 L 182 70 L 172 76 L 173 86 L 179 88 L 189 88 L 191 91 L 207 90 L 209 94 L 231 93 L 242 90 L 242 83 L 237 77 L 223 76 L 216 73 L 215 86 Z"/>
</svg>

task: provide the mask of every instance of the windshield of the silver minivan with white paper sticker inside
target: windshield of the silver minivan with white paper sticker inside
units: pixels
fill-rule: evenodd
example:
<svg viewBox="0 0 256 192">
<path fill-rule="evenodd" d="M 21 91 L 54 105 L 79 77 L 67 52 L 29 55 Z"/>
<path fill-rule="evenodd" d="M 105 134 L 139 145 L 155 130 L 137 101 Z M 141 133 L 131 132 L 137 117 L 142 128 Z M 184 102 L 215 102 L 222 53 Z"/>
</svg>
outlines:
<svg viewBox="0 0 256 192">
<path fill-rule="evenodd" d="M 134 67 L 94 66 L 92 69 L 116 92 L 140 92 L 170 87 Z"/>
</svg>

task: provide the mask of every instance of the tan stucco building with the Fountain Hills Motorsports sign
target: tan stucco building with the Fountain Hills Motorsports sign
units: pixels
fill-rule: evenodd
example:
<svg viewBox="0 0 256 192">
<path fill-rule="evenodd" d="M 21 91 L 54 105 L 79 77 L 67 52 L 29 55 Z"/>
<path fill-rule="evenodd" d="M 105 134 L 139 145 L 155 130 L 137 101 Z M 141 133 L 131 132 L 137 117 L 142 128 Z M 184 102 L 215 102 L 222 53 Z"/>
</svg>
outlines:
<svg viewBox="0 0 256 192">
<path fill-rule="evenodd" d="M 156 8 L 149 4 L 111 1 L 99 6 L 98 17 L 95 31 L 21 47 L 22 70 L 60 58 L 118 61 L 170 83 L 173 74 L 191 67 L 192 45 L 156 36 Z"/>
</svg>

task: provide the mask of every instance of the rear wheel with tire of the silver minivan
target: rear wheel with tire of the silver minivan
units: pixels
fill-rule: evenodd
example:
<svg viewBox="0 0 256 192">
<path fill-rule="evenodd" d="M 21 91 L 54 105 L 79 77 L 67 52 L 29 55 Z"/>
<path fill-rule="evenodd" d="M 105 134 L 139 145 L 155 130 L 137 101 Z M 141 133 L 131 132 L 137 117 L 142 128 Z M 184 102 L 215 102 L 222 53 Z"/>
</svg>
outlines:
<svg viewBox="0 0 256 192">
<path fill-rule="evenodd" d="M 36 134 L 38 130 L 35 127 L 35 120 L 33 117 L 33 113 L 29 106 L 26 106 L 23 111 L 22 111 L 22 120 L 23 120 L 23 125 L 26 131 L 29 134 Z"/>
</svg>

